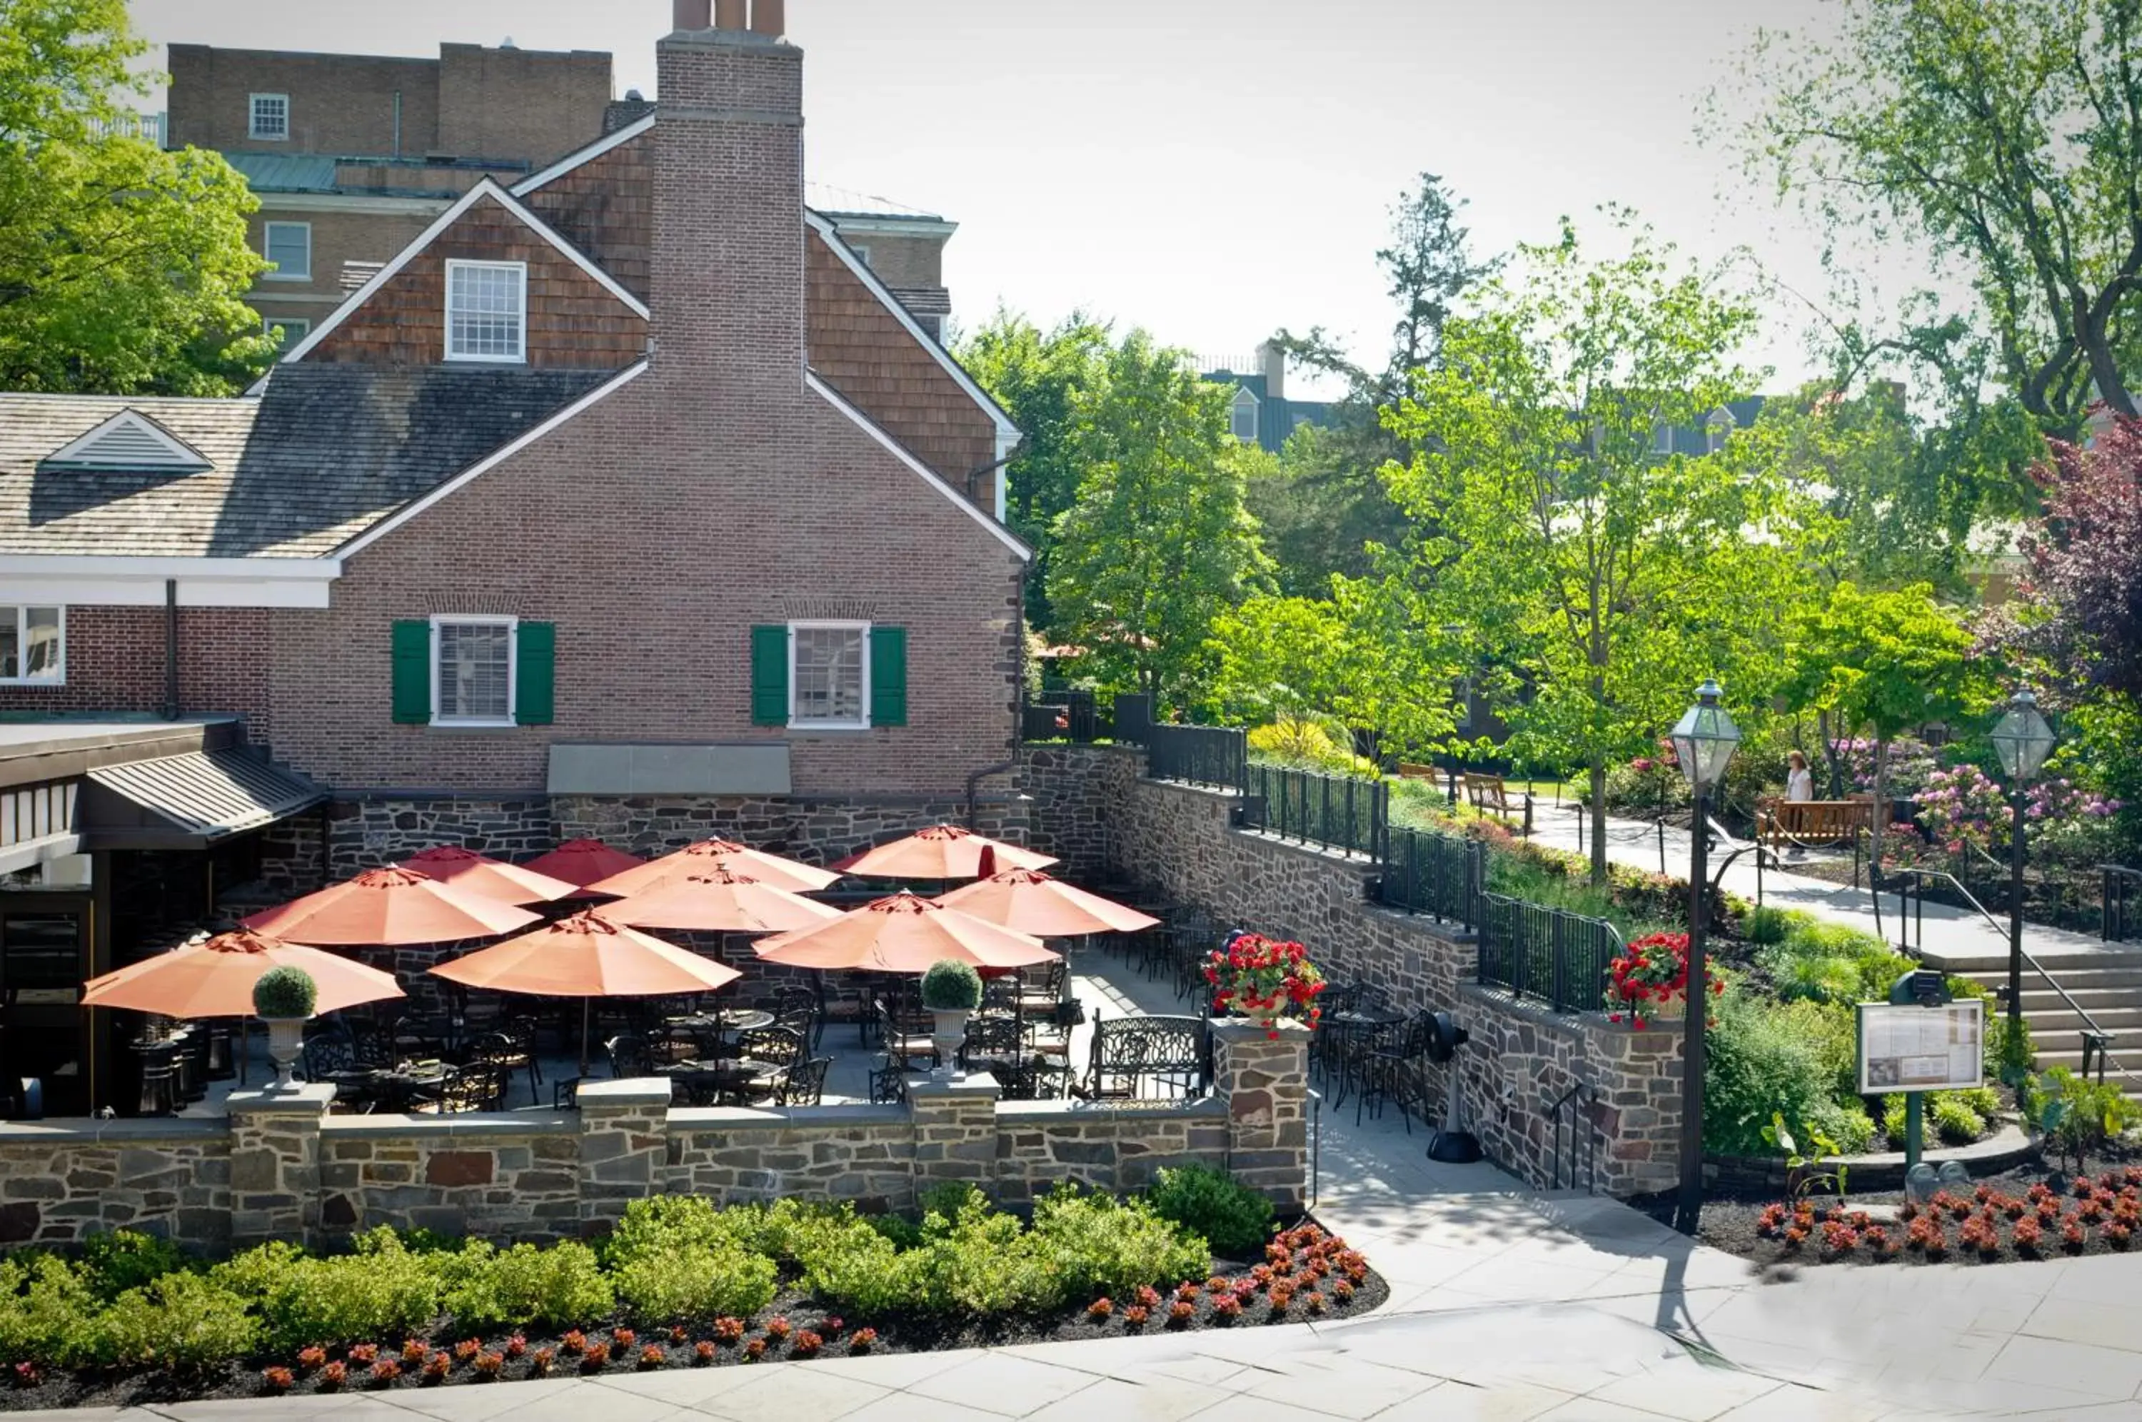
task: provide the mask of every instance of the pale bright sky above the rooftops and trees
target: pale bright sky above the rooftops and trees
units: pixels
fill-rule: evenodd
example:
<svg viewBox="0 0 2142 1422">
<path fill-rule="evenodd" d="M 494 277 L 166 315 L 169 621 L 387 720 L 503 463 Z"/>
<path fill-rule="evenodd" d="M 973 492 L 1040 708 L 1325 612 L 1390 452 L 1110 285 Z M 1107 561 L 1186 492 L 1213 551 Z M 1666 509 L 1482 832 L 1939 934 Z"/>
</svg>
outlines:
<svg viewBox="0 0 2142 1422">
<path fill-rule="evenodd" d="M 135 0 L 156 43 L 608 49 L 653 90 L 670 0 Z M 1202 356 L 1328 326 L 1379 360 L 1373 263 L 1422 169 L 1478 251 L 1634 206 L 1684 251 L 1752 248 L 1819 296 L 1814 240 L 1696 139 L 1756 26 L 1821 0 L 788 0 L 814 182 L 938 210 L 957 319 L 1084 306 Z M 1806 370 L 1778 306 L 1756 364 Z"/>
</svg>

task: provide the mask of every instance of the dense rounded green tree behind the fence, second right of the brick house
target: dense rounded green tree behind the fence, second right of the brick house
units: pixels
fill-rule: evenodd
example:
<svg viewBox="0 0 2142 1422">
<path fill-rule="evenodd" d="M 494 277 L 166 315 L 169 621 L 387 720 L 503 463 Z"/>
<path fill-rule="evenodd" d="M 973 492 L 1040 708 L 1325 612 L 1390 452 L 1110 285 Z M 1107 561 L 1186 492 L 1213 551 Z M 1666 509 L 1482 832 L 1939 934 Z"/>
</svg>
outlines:
<svg viewBox="0 0 2142 1422">
<path fill-rule="evenodd" d="M 1082 480 L 1054 529 L 1052 634 L 1086 647 L 1103 683 L 1187 707 L 1210 677 L 1212 623 L 1270 574 L 1227 392 L 1133 330 L 1077 392 L 1069 452 Z"/>
</svg>

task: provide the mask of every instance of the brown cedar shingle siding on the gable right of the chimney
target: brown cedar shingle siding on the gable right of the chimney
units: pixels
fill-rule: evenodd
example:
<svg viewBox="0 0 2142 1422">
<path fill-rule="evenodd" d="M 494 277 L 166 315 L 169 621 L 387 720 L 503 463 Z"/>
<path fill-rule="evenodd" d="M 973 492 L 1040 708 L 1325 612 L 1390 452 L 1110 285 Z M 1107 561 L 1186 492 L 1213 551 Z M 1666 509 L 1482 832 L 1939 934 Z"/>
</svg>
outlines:
<svg viewBox="0 0 2142 1422">
<path fill-rule="evenodd" d="M 812 370 L 966 493 L 996 463 L 996 424 L 816 231 L 805 261 Z"/>
</svg>

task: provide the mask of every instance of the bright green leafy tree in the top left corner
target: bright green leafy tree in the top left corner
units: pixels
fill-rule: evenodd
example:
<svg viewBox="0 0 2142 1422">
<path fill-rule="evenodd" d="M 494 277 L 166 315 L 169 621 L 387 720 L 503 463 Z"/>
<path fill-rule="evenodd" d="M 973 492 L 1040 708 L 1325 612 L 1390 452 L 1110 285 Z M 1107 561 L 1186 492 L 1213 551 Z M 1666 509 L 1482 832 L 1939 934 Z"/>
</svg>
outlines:
<svg viewBox="0 0 2142 1422">
<path fill-rule="evenodd" d="M 137 94 L 122 0 L 0 0 L 0 383 L 229 394 L 274 358 L 244 304 L 257 201 L 221 156 L 99 133 Z"/>
</svg>

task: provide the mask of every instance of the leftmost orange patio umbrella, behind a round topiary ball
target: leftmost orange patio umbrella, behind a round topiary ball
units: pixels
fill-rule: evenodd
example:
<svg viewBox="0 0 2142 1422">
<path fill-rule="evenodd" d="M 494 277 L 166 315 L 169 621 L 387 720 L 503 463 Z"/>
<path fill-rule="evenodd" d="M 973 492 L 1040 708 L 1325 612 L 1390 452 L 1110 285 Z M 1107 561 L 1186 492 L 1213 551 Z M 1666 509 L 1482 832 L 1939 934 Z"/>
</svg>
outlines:
<svg viewBox="0 0 2142 1422">
<path fill-rule="evenodd" d="M 195 938 L 84 983 L 84 1007 L 124 1007 L 161 1017 L 251 1017 L 253 983 L 270 968 L 304 968 L 319 989 L 313 1011 L 338 1013 L 360 1002 L 403 996 L 392 972 L 366 968 L 336 953 L 321 953 L 263 934 Z"/>
</svg>

